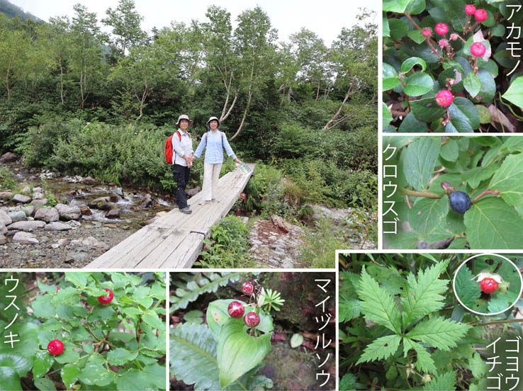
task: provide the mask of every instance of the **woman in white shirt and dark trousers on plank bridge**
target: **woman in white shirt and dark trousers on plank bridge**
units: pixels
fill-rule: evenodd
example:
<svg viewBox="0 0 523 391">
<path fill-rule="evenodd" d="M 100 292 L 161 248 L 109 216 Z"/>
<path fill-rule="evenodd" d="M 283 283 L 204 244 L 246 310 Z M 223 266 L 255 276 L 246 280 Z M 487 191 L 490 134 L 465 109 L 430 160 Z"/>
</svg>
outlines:
<svg viewBox="0 0 523 391">
<path fill-rule="evenodd" d="M 189 209 L 187 196 L 185 194 L 194 152 L 191 134 L 187 132 L 187 128 L 192 124 L 193 121 L 189 120 L 189 115 L 180 115 L 176 123 L 178 130 L 176 130 L 171 139 L 174 152 L 172 156 L 172 174 L 174 181 L 176 181 L 176 205 L 178 205 L 181 212 L 187 215 L 192 212 L 192 210 Z"/>
</svg>

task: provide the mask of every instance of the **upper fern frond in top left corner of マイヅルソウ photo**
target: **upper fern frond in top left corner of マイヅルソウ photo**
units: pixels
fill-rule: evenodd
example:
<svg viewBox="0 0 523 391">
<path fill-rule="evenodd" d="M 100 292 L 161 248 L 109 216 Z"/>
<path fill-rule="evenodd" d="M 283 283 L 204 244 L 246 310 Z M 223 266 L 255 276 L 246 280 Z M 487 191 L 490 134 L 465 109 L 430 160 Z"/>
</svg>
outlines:
<svg viewBox="0 0 523 391">
<path fill-rule="evenodd" d="M 170 297 L 171 314 L 180 308 L 186 308 L 189 302 L 197 300 L 203 293 L 216 292 L 229 281 L 240 279 L 240 273 L 176 273 L 172 285 L 178 287 Z"/>
</svg>

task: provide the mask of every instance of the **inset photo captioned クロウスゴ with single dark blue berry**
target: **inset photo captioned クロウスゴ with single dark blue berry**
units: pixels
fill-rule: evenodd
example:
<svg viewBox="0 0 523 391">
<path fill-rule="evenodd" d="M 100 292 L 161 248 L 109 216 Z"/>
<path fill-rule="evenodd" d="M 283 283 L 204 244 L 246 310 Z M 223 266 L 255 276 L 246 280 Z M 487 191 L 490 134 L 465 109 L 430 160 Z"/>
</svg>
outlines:
<svg viewBox="0 0 523 391">
<path fill-rule="evenodd" d="M 522 249 L 523 138 L 383 137 L 384 249 Z"/>
</svg>

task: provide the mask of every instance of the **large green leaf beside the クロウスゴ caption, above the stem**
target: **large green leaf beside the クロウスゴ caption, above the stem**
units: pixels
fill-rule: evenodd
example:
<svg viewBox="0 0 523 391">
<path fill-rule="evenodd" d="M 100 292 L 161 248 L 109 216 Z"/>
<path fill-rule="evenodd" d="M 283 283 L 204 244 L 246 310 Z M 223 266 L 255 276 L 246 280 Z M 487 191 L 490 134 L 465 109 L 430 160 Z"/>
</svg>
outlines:
<svg viewBox="0 0 523 391">
<path fill-rule="evenodd" d="M 403 171 L 410 186 L 427 190 L 432 171 L 439 155 L 439 137 L 420 137 L 413 141 L 405 153 Z"/>
</svg>

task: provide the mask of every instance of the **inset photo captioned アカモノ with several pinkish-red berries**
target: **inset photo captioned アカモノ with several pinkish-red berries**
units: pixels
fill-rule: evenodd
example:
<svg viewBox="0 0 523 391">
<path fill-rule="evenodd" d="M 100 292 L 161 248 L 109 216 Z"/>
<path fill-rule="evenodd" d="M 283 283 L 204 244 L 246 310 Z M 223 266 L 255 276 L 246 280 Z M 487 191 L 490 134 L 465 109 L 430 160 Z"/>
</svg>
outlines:
<svg viewBox="0 0 523 391">
<path fill-rule="evenodd" d="M 521 1 L 383 0 L 384 132 L 523 132 Z"/>
</svg>

